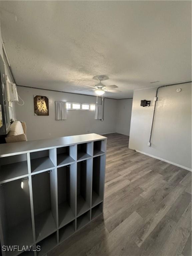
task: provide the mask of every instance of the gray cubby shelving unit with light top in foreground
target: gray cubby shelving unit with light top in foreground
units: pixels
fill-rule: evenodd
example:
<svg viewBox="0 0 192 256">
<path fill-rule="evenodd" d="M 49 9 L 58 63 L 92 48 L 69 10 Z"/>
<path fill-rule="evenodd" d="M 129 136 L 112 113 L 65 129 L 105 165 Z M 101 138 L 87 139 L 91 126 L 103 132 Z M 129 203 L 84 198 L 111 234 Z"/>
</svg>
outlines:
<svg viewBox="0 0 192 256">
<path fill-rule="evenodd" d="M 106 137 L 1 144 L 1 246 L 41 246 L 2 256 L 43 256 L 103 213 Z"/>
</svg>

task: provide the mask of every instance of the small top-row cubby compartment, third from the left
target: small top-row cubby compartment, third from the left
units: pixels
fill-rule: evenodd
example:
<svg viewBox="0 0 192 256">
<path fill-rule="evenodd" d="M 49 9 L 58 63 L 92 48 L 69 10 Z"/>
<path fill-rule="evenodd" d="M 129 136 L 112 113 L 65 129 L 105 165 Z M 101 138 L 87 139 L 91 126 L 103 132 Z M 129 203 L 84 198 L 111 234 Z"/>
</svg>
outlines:
<svg viewBox="0 0 192 256">
<path fill-rule="evenodd" d="M 65 165 L 76 160 L 76 145 L 57 148 L 57 165 Z"/>
</svg>

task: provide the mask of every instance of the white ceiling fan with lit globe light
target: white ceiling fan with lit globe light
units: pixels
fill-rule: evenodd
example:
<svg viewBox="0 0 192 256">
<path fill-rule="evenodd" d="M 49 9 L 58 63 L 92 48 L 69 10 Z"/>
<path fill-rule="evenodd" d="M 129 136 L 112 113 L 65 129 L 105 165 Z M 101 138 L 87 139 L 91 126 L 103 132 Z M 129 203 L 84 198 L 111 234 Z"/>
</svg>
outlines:
<svg viewBox="0 0 192 256">
<path fill-rule="evenodd" d="M 94 76 L 93 79 L 98 80 L 99 83 L 96 84 L 95 86 L 84 84 L 89 87 L 92 87 L 93 89 L 83 89 L 80 91 L 95 91 L 97 95 L 103 95 L 105 92 L 116 92 L 116 93 L 121 92 L 118 90 L 114 90 L 115 88 L 118 88 L 117 85 L 105 86 L 104 84 L 101 83 L 101 81 L 109 79 L 108 76 L 104 76 L 104 75 Z"/>
</svg>

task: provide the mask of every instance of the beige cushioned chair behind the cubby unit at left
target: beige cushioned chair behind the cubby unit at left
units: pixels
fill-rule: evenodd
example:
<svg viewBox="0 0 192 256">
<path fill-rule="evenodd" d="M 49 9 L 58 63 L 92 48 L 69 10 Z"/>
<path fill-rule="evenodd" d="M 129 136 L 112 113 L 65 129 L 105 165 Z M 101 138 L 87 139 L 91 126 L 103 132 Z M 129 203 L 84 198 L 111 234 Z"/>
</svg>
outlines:
<svg viewBox="0 0 192 256">
<path fill-rule="evenodd" d="M 27 141 L 26 137 L 26 123 L 15 121 L 11 124 L 10 131 L 5 138 L 7 143 Z"/>
</svg>

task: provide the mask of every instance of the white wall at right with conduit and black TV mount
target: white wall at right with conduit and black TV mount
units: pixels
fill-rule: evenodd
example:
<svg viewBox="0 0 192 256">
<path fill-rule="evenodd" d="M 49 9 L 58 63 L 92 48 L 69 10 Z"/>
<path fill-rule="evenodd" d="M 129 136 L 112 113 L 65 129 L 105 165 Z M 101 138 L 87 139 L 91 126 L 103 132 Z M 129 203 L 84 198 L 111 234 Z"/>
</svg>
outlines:
<svg viewBox="0 0 192 256">
<path fill-rule="evenodd" d="M 134 91 L 129 148 L 191 169 L 191 83 L 159 89 L 149 147 L 155 93 L 156 88 Z M 140 107 L 142 99 L 151 106 Z"/>
</svg>

